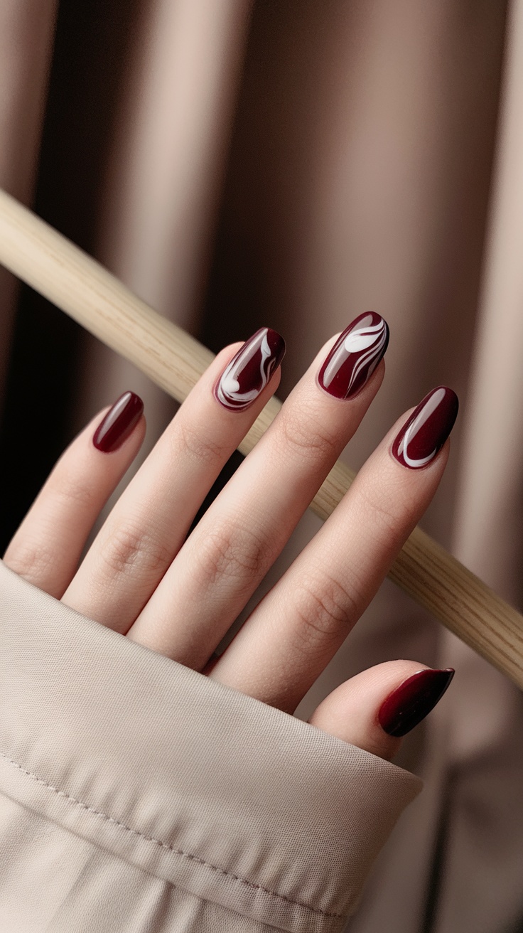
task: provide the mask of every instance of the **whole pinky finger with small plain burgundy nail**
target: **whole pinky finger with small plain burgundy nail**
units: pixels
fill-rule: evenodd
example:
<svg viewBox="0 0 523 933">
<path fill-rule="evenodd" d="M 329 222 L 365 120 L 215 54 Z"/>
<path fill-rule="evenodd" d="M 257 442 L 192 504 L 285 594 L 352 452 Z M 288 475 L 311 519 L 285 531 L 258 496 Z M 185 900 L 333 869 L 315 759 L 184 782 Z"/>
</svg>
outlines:
<svg viewBox="0 0 523 933">
<path fill-rule="evenodd" d="M 62 453 L 4 555 L 15 573 L 56 599 L 75 576 L 83 547 L 145 438 L 144 403 L 125 392 Z"/>
</svg>

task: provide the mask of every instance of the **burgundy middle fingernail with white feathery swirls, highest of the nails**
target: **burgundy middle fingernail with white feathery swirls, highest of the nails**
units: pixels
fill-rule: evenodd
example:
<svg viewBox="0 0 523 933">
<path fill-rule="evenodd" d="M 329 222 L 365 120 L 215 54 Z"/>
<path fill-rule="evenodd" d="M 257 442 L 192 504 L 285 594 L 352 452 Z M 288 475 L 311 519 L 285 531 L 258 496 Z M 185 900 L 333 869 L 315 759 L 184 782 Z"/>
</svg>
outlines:
<svg viewBox="0 0 523 933">
<path fill-rule="evenodd" d="M 336 398 L 354 396 L 372 376 L 389 343 L 389 326 L 370 311 L 354 318 L 337 338 L 318 373 L 318 383 Z"/>
</svg>

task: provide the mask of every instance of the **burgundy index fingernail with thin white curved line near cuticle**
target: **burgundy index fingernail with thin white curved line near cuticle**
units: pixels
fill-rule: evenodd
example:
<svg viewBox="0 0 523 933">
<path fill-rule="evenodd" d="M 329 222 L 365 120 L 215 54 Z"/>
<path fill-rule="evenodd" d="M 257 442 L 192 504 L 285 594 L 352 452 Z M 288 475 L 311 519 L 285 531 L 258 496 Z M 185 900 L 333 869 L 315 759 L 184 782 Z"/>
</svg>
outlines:
<svg viewBox="0 0 523 933">
<path fill-rule="evenodd" d="M 398 463 L 411 469 L 430 464 L 447 440 L 458 408 L 458 396 L 447 386 L 439 385 L 429 392 L 392 442 Z"/>
</svg>

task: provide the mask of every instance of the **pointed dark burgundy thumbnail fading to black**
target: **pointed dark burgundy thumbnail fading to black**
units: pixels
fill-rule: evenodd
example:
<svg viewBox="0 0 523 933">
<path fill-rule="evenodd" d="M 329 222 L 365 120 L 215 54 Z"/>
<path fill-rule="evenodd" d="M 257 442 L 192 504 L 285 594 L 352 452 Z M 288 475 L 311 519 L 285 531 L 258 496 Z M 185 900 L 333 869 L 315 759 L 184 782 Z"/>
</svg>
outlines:
<svg viewBox="0 0 523 933">
<path fill-rule="evenodd" d="M 378 712 L 381 729 L 388 735 L 406 735 L 434 709 L 453 676 L 454 668 L 447 667 L 445 671 L 426 668 L 407 677 L 381 703 Z"/>
</svg>

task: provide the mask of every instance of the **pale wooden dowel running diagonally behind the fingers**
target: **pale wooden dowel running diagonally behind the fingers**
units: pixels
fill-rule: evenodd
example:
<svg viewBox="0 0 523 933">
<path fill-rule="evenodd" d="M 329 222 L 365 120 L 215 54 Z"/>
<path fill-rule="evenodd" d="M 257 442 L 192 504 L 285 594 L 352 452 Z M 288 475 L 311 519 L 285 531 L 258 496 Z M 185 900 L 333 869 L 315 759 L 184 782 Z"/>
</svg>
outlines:
<svg viewBox="0 0 523 933">
<path fill-rule="evenodd" d="M 136 298 L 118 279 L 0 191 L 0 262 L 178 401 L 213 354 Z M 240 445 L 249 453 L 281 408 L 271 398 Z M 326 519 L 354 473 L 337 461 L 310 508 Z M 416 528 L 389 577 L 451 632 L 523 687 L 523 617 Z"/>
</svg>

